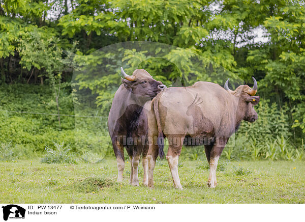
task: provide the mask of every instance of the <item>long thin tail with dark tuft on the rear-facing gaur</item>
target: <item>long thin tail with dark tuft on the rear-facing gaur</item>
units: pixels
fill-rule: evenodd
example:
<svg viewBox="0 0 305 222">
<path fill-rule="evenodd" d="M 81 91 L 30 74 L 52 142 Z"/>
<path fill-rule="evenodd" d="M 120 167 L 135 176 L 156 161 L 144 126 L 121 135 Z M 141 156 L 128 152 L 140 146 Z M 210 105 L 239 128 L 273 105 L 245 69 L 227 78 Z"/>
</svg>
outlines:
<svg viewBox="0 0 305 222">
<path fill-rule="evenodd" d="M 157 139 L 157 144 L 159 147 L 159 157 L 163 159 L 164 157 L 164 134 L 162 132 L 162 127 L 161 127 L 161 121 L 160 121 L 160 114 L 159 114 L 159 99 L 161 97 L 162 92 L 160 92 L 155 98 L 154 98 L 154 112 L 157 120 L 157 125 L 158 125 L 158 139 Z"/>
</svg>

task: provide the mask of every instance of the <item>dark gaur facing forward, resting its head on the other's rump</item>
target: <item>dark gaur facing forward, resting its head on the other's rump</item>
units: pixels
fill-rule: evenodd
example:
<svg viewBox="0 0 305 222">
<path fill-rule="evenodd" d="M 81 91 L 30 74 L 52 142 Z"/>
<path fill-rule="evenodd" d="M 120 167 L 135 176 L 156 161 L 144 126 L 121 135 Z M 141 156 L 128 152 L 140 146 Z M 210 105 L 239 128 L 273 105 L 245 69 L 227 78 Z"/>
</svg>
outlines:
<svg viewBox="0 0 305 222">
<path fill-rule="evenodd" d="M 123 180 L 125 167 L 124 147 L 131 163 L 130 183 L 139 186 L 138 165 L 142 154 L 143 183 L 147 185 L 147 108 L 166 86 L 155 80 L 144 69 L 136 69 L 132 75 L 120 68 L 122 85 L 114 94 L 108 117 L 108 129 L 117 160 L 117 180 Z"/>
</svg>

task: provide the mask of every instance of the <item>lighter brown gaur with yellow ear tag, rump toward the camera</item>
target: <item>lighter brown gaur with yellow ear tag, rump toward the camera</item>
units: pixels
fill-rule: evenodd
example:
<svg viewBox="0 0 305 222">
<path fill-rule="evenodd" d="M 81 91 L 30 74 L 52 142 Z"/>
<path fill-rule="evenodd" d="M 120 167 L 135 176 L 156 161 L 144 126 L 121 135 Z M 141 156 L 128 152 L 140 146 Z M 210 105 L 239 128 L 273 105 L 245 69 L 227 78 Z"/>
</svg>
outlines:
<svg viewBox="0 0 305 222">
<path fill-rule="evenodd" d="M 172 87 L 153 99 L 148 113 L 148 186 L 153 187 L 154 168 L 157 156 L 163 156 L 164 137 L 169 147 L 166 159 L 169 164 L 175 188 L 182 189 L 178 176 L 178 158 L 182 145 L 204 145 L 210 165 L 208 186 L 216 187 L 218 159 L 230 136 L 238 129 L 242 120 L 254 122 L 258 115 L 254 105 L 260 96 L 257 82 L 254 86 L 241 85 L 234 91 L 212 82 L 196 82 L 190 87 Z M 187 140 L 187 141 L 186 141 Z M 190 143 L 191 142 L 191 143 Z"/>
</svg>

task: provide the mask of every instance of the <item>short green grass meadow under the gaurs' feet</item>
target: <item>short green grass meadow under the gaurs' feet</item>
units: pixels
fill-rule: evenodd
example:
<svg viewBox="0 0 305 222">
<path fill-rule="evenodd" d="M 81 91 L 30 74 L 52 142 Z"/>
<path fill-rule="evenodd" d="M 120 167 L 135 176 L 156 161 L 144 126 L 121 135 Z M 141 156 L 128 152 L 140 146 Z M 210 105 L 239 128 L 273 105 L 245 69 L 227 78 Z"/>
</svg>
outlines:
<svg viewBox="0 0 305 222">
<path fill-rule="evenodd" d="M 155 189 L 117 183 L 116 162 L 47 164 L 39 159 L 1 162 L 1 203 L 305 203 L 305 165 L 288 161 L 229 162 L 217 172 L 218 187 L 206 186 L 208 170 L 184 161 L 184 190 L 173 188 L 166 161 L 157 162 Z M 143 171 L 139 169 L 140 180 Z"/>
</svg>

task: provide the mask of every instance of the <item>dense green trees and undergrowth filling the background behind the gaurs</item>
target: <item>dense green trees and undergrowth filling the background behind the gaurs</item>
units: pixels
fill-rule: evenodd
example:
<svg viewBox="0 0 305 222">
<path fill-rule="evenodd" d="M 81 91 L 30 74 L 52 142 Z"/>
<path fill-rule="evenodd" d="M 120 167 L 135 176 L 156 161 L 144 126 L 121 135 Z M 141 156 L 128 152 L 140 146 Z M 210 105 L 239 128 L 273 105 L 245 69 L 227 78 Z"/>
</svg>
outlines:
<svg viewBox="0 0 305 222">
<path fill-rule="evenodd" d="M 302 159 L 304 20 L 304 1 L 0 0 L 3 147 L 44 151 L 65 142 L 79 154 L 106 152 L 124 66 L 167 86 L 227 77 L 251 85 L 255 76 L 260 118 L 243 123 L 227 158 Z"/>
</svg>

